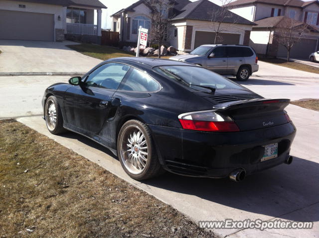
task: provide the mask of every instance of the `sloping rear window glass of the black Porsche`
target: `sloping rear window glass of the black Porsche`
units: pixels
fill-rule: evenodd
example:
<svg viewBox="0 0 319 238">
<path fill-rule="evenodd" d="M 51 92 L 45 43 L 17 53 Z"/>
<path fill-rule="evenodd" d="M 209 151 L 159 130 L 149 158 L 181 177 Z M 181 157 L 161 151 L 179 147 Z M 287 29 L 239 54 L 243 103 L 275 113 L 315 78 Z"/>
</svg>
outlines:
<svg viewBox="0 0 319 238">
<path fill-rule="evenodd" d="M 188 85 L 214 89 L 242 89 L 242 87 L 219 74 L 198 66 L 167 65 L 154 70 L 166 78 L 182 80 Z M 198 88 L 200 89 L 200 88 Z"/>
</svg>

